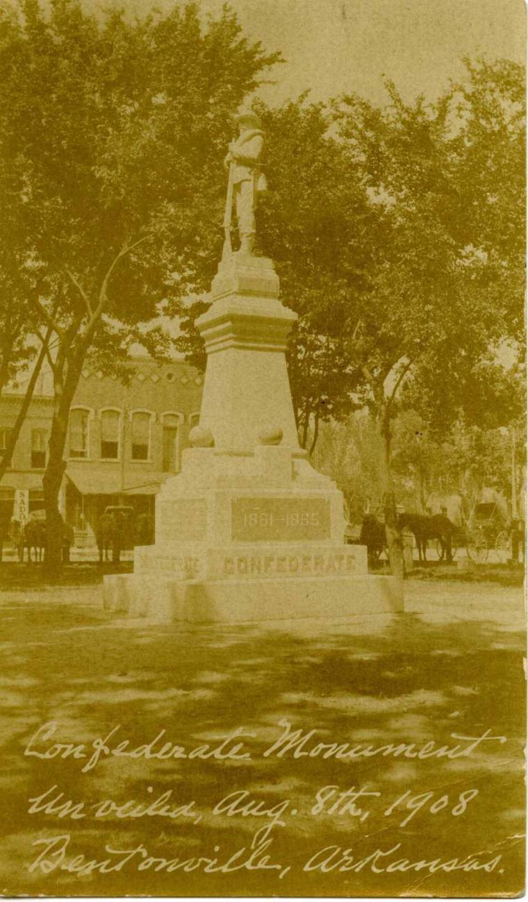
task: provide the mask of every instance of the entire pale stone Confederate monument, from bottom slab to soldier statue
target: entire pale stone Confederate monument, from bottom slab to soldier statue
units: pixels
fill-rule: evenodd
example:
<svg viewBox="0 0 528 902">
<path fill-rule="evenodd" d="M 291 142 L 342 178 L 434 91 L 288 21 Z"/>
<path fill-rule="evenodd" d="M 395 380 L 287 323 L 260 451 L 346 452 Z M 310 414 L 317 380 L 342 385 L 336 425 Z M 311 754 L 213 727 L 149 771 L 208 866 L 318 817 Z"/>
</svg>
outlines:
<svg viewBox="0 0 528 902">
<path fill-rule="evenodd" d="M 105 578 L 105 604 L 166 623 L 400 611 L 401 585 L 367 574 L 366 548 L 344 542 L 341 492 L 299 446 L 284 355 L 297 315 L 273 262 L 254 254 L 264 133 L 251 110 L 236 121 L 224 250 L 197 320 L 208 354 L 199 426 L 156 497 L 155 545 L 135 549 L 134 574 Z"/>
</svg>

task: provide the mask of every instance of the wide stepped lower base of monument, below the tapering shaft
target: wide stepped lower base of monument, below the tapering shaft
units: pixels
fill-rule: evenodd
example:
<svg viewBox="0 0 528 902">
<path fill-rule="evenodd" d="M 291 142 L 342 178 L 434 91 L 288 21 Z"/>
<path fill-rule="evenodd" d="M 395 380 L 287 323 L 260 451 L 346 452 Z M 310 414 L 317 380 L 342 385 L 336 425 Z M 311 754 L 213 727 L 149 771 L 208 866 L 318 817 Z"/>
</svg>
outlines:
<svg viewBox="0 0 528 902">
<path fill-rule="evenodd" d="M 187 448 L 156 499 L 156 543 L 104 580 L 107 610 L 152 623 L 242 623 L 403 611 L 402 584 L 343 541 L 343 498 L 301 451 Z M 159 538 L 158 538 L 159 537 Z"/>
</svg>

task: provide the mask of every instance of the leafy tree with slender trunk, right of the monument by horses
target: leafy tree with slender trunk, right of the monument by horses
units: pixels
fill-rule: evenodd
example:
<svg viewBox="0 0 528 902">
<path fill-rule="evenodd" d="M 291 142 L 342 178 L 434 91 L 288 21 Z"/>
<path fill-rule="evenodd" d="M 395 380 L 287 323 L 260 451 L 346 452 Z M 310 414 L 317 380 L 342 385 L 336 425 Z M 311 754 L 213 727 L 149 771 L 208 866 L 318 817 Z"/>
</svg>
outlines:
<svg viewBox="0 0 528 902">
<path fill-rule="evenodd" d="M 469 69 L 470 85 L 475 71 Z M 425 395 L 430 401 L 434 396 L 437 409 L 443 408 L 452 422 L 472 397 L 471 384 L 486 384 L 493 349 L 515 331 L 512 309 L 518 313 L 519 292 L 512 299 L 511 289 L 519 284 L 520 261 L 514 257 L 505 263 L 499 253 L 498 223 L 482 232 L 478 216 L 471 227 L 464 221 L 468 205 L 483 208 L 489 201 L 481 180 L 466 179 L 476 152 L 469 133 L 478 131 L 481 93 L 466 89 L 466 106 L 457 99 L 460 87 L 434 104 L 425 105 L 419 97 L 406 105 L 394 86 L 388 89 L 390 106 L 378 109 L 346 97 L 337 105 L 337 120 L 350 164 L 363 167 L 366 192 L 383 221 L 368 290 L 363 298 L 350 292 L 357 303 L 350 307 L 349 354 L 362 364 L 364 397 L 378 424 L 389 554 L 394 572 L 403 574 L 392 471 L 394 417 Z M 499 116 L 518 91 L 512 94 L 505 78 L 495 78 L 494 90 L 504 101 Z M 471 103 L 473 113 L 468 112 Z M 499 147 L 504 141 L 518 143 L 520 118 L 515 116 L 510 126 L 506 138 L 499 129 L 496 141 L 489 128 L 486 144 L 482 135 L 474 138 L 481 163 L 489 164 L 488 192 L 497 182 L 490 162 L 497 142 Z M 517 178 L 522 179 L 521 171 Z M 508 195 L 501 211 L 517 238 L 519 203 L 522 192 L 520 198 Z M 483 236 L 486 253 L 479 251 Z M 509 268 L 507 283 L 497 278 L 497 254 L 500 267 Z"/>
</svg>

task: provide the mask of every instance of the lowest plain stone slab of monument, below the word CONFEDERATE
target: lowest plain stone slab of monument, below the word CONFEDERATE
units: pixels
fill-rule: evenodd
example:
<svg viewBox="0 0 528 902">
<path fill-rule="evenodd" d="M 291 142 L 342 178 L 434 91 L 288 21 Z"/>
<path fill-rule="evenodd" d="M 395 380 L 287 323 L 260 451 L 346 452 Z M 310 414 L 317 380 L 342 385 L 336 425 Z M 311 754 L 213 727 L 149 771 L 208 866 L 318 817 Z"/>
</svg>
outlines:
<svg viewBox="0 0 528 902">
<path fill-rule="evenodd" d="M 150 623 L 244 623 L 403 611 L 401 586 L 391 576 L 181 580 L 159 575 L 105 578 L 105 607 Z"/>
</svg>

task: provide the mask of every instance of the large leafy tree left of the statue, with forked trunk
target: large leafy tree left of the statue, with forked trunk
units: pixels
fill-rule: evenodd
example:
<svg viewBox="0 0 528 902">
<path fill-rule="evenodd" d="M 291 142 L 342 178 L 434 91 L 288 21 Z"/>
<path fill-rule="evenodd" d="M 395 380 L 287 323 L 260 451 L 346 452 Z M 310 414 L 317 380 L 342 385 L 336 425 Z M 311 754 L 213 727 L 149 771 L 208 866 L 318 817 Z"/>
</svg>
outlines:
<svg viewBox="0 0 528 902">
<path fill-rule="evenodd" d="M 60 565 L 69 407 L 87 354 L 119 348 L 124 327 L 137 330 L 162 301 L 174 315 L 208 283 L 230 115 L 277 60 L 246 41 L 227 7 L 205 28 L 194 3 L 133 23 L 77 0 L 52 0 L 49 11 L 25 0 L 2 14 L 4 184 L 39 273 L 37 335 L 51 329 L 54 345 L 50 569 Z"/>
</svg>

